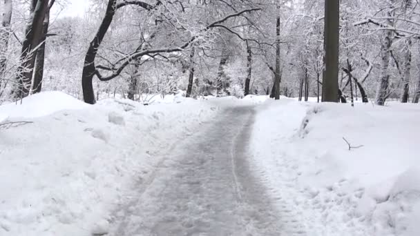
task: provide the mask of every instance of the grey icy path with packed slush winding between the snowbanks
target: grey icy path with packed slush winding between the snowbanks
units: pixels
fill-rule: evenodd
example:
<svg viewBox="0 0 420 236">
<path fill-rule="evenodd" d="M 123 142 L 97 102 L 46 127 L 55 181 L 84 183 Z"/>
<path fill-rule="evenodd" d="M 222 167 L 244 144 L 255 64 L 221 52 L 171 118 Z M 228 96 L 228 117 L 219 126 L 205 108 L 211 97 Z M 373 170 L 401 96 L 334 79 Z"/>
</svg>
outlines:
<svg viewBox="0 0 420 236">
<path fill-rule="evenodd" d="M 172 148 L 108 235 L 280 235 L 280 215 L 248 162 L 253 121 L 252 106 L 227 108 Z"/>
</svg>

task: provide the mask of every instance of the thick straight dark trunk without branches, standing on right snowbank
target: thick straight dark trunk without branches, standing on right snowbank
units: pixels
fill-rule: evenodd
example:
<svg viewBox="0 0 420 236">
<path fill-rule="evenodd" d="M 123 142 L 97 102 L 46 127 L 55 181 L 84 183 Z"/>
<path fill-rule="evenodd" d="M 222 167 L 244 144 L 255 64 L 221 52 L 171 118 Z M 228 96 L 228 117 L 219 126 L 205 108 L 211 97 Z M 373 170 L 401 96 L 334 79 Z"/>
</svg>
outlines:
<svg viewBox="0 0 420 236">
<path fill-rule="evenodd" d="M 339 9 L 338 0 L 325 0 L 323 101 L 338 101 Z"/>
</svg>

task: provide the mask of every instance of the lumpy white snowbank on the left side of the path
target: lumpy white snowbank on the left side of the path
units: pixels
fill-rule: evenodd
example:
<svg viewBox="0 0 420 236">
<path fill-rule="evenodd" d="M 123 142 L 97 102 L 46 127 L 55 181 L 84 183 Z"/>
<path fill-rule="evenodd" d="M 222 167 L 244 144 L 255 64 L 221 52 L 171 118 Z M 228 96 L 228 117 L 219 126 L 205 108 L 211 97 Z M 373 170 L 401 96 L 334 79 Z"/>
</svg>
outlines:
<svg viewBox="0 0 420 236">
<path fill-rule="evenodd" d="M 192 99 L 88 106 L 60 92 L 0 106 L 3 122 L 33 121 L 0 128 L 0 235 L 105 233 L 123 196 L 218 110 Z"/>
</svg>

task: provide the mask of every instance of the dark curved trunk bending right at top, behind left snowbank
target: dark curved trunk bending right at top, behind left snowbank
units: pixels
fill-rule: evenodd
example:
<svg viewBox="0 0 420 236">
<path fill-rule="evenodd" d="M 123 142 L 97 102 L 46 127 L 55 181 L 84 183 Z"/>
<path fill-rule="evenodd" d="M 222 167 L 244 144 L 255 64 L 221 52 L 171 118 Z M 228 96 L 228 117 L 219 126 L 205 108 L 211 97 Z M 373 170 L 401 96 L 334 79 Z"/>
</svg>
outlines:
<svg viewBox="0 0 420 236">
<path fill-rule="evenodd" d="M 87 104 L 95 104 L 95 92 L 93 92 L 92 79 L 95 75 L 95 57 L 97 55 L 97 50 L 102 43 L 102 40 L 105 37 L 106 31 L 108 31 L 113 17 L 115 14 L 115 6 L 117 0 L 108 0 L 108 6 L 106 7 L 105 17 L 102 20 L 101 26 L 97 31 L 95 38 L 90 41 L 88 51 L 86 52 L 86 57 L 84 59 L 84 68 L 82 72 L 82 90 L 83 90 L 83 99 Z"/>
</svg>

